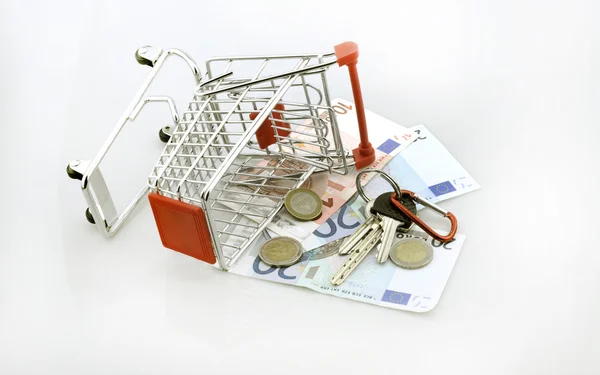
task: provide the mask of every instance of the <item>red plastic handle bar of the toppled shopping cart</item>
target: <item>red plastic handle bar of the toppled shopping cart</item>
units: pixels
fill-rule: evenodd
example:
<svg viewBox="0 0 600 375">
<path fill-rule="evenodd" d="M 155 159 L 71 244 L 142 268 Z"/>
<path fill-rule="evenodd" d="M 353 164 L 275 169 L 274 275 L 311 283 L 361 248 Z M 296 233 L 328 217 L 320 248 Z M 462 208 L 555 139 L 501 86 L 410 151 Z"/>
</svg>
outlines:
<svg viewBox="0 0 600 375">
<path fill-rule="evenodd" d="M 352 150 L 356 169 L 368 167 L 375 161 L 375 149 L 369 142 L 369 133 L 367 131 L 367 117 L 365 116 L 365 106 L 362 100 L 362 91 L 360 90 L 360 81 L 358 79 L 358 45 L 354 42 L 344 42 L 334 47 L 335 56 L 339 66 L 347 66 L 350 73 L 350 83 L 352 84 L 352 95 L 354 96 L 354 105 L 356 107 L 356 117 L 358 120 L 358 131 L 360 132 L 360 144 L 358 148 Z"/>
</svg>

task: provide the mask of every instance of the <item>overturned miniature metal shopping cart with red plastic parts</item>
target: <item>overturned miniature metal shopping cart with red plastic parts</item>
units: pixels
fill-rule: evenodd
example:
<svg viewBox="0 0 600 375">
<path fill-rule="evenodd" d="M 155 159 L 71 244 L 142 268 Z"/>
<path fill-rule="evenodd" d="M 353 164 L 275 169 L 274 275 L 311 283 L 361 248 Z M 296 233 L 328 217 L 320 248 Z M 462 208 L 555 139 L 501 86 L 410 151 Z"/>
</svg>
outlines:
<svg viewBox="0 0 600 375">
<path fill-rule="evenodd" d="M 375 159 L 353 42 L 326 54 L 213 58 L 204 76 L 181 51 L 149 53 L 138 50 L 138 61 L 152 72 L 105 147 L 93 161 L 72 162 L 67 170 L 82 180 L 86 214 L 103 233 L 113 234 L 150 191 L 165 247 L 229 269 L 273 220 L 287 192 L 312 173 L 346 174 Z M 197 81 L 181 116 L 170 98 L 144 97 L 168 55 L 183 58 Z M 354 95 L 361 140 L 351 153 L 342 145 L 329 97 L 326 73 L 335 64 L 348 67 Z M 119 215 L 98 163 L 127 120 L 150 101 L 167 102 L 173 125 L 160 130 L 165 148 L 147 185 Z"/>
</svg>

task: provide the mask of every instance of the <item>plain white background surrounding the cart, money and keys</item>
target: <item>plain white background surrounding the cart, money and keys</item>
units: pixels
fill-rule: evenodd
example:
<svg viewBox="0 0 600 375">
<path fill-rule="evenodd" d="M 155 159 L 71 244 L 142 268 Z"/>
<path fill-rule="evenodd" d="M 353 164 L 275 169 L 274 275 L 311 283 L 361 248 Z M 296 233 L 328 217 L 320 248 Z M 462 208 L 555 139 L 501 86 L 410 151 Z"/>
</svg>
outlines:
<svg viewBox="0 0 600 375">
<path fill-rule="evenodd" d="M 599 18 L 591 0 L 3 1 L 0 373 L 598 374 Z M 140 87 L 138 47 L 201 63 L 345 40 L 366 106 L 425 124 L 483 186 L 443 204 L 467 240 L 435 310 L 218 271 L 164 249 L 146 203 L 110 240 L 87 224 L 64 168 Z M 161 148 L 148 113 L 107 160 L 123 202 Z"/>
</svg>

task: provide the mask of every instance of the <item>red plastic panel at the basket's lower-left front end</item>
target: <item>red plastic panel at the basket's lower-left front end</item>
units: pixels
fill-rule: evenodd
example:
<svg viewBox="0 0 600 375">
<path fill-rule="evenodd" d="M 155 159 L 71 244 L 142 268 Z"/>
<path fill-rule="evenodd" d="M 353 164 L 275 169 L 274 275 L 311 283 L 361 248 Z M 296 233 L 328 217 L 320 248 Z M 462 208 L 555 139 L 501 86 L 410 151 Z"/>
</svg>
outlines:
<svg viewBox="0 0 600 375">
<path fill-rule="evenodd" d="M 148 194 L 148 200 L 164 247 L 215 264 L 202 208 L 156 193 Z"/>
</svg>

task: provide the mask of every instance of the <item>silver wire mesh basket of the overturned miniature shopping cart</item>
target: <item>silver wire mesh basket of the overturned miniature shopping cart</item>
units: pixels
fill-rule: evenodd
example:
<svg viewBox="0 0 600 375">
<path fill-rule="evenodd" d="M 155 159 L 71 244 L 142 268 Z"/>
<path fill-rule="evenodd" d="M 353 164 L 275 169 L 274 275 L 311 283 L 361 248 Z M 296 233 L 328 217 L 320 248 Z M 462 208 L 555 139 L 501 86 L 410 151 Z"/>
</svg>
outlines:
<svg viewBox="0 0 600 375">
<path fill-rule="evenodd" d="M 310 55 L 208 62 L 207 77 L 151 172 L 149 184 L 159 194 L 203 208 L 224 269 L 271 222 L 287 192 L 302 186 L 316 169 L 334 171 L 337 163 L 347 170 L 325 68 L 285 73 L 323 59 Z M 222 71 L 213 76 L 211 67 L 217 62 Z M 273 74 L 278 76 L 246 85 Z M 257 133 L 265 126 L 274 137 L 268 146 Z"/>
</svg>

